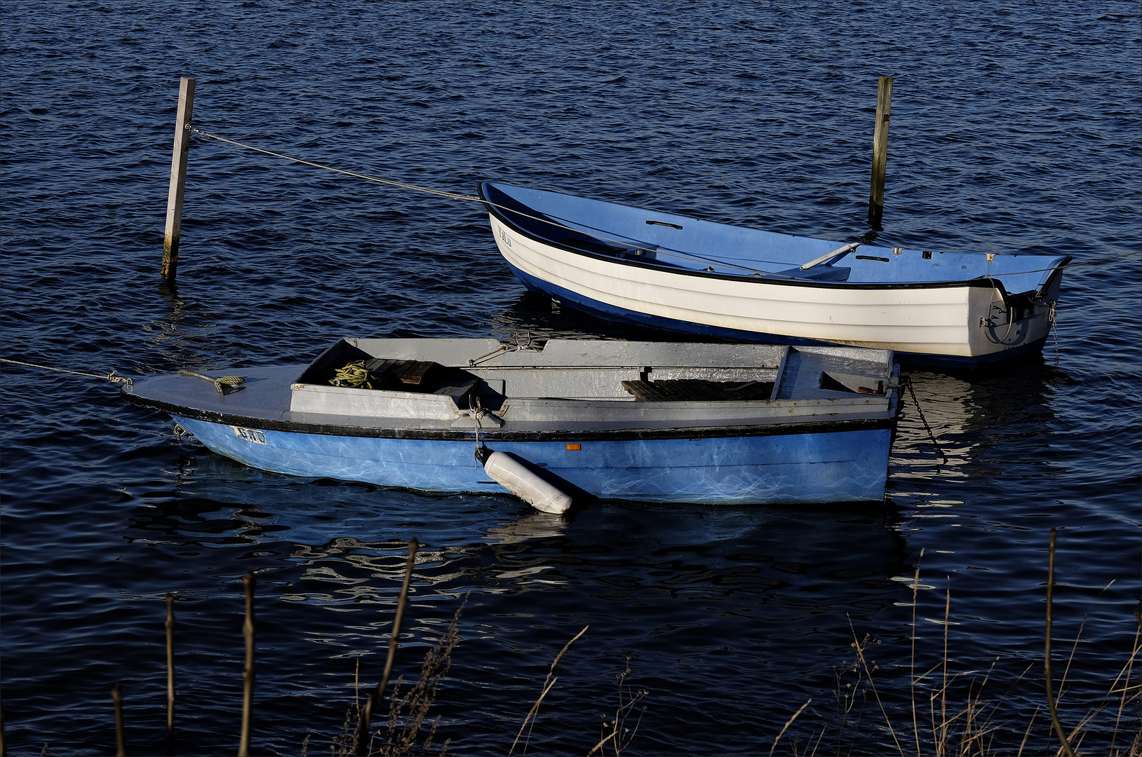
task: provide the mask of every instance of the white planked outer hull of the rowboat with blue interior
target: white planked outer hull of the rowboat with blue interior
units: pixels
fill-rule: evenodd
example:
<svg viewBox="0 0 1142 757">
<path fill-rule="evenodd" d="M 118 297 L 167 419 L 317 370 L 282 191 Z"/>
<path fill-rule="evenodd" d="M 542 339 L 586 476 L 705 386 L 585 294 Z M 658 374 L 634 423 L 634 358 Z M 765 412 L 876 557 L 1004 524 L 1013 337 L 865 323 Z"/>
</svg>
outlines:
<svg viewBox="0 0 1142 757">
<path fill-rule="evenodd" d="M 525 236 L 496 216 L 490 222 L 500 253 L 532 288 L 569 305 L 649 324 L 660 320 L 667 328 L 698 324 L 710 333 L 874 347 L 974 364 L 1042 345 L 1059 298 L 1057 276 L 1043 297 L 1020 309 L 997 287 L 978 281 L 825 288 L 689 275 L 585 256 Z"/>
</svg>

